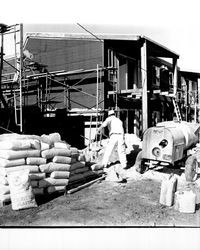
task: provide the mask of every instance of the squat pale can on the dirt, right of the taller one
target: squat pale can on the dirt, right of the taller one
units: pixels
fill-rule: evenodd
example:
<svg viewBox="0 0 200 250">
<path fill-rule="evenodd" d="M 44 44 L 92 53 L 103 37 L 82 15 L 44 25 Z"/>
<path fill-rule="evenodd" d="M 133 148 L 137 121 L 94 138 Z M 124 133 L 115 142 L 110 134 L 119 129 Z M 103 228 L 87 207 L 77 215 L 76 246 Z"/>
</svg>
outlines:
<svg viewBox="0 0 200 250">
<path fill-rule="evenodd" d="M 175 193 L 174 208 L 181 213 L 195 213 L 196 194 L 192 190 Z"/>
</svg>

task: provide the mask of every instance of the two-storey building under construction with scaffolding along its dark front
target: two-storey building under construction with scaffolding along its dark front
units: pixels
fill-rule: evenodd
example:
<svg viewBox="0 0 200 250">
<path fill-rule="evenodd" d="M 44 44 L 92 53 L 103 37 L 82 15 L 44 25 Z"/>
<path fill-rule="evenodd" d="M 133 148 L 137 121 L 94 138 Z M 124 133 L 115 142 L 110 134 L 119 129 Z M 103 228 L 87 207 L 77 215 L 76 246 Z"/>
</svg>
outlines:
<svg viewBox="0 0 200 250">
<path fill-rule="evenodd" d="M 13 33 L 15 55 L 4 59 Z M 142 35 L 27 33 L 1 26 L 1 133 L 59 132 L 83 147 L 110 108 L 126 133 L 157 122 L 198 120 L 199 74 L 179 55 Z M 183 112 L 179 112 L 179 108 Z"/>
</svg>

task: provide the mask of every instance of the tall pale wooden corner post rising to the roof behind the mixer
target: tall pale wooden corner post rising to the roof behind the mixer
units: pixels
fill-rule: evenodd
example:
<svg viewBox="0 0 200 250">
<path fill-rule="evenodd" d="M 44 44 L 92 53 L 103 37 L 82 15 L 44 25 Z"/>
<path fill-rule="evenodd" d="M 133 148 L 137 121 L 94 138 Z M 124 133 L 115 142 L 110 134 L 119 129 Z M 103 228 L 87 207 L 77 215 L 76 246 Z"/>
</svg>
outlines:
<svg viewBox="0 0 200 250">
<path fill-rule="evenodd" d="M 148 97 L 147 97 L 147 44 L 141 47 L 141 81 L 142 81 L 142 132 L 148 128 Z"/>
</svg>

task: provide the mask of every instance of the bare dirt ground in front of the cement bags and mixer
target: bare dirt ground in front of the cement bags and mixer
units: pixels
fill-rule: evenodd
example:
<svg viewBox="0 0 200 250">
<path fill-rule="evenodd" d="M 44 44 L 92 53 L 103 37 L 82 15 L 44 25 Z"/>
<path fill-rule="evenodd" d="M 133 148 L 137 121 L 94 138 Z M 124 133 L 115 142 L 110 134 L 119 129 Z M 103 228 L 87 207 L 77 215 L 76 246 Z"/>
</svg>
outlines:
<svg viewBox="0 0 200 250">
<path fill-rule="evenodd" d="M 0 226 L 200 227 L 199 203 L 193 214 L 159 203 L 161 177 L 173 170 L 150 170 L 143 175 L 127 171 L 125 184 L 102 180 L 73 194 L 37 198 L 37 208 L 14 211 L 6 205 L 0 208 Z M 182 175 L 178 170 L 177 176 L 181 179 Z M 199 193 L 198 189 L 198 200 Z"/>
</svg>

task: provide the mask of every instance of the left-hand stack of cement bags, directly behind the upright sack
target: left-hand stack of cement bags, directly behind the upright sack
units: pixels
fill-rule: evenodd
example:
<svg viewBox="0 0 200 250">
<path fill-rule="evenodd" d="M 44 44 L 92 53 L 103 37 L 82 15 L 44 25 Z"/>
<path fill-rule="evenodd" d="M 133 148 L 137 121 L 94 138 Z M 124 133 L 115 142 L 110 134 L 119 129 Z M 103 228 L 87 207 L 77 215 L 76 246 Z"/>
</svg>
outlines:
<svg viewBox="0 0 200 250">
<path fill-rule="evenodd" d="M 10 189 L 7 176 L 13 171 L 29 170 L 31 185 L 35 194 L 42 194 L 38 181 L 45 178 L 39 165 L 46 159 L 40 156 L 41 143 L 37 136 L 4 134 L 0 136 L 0 200 L 10 201 Z"/>
</svg>

